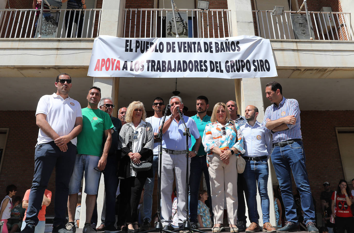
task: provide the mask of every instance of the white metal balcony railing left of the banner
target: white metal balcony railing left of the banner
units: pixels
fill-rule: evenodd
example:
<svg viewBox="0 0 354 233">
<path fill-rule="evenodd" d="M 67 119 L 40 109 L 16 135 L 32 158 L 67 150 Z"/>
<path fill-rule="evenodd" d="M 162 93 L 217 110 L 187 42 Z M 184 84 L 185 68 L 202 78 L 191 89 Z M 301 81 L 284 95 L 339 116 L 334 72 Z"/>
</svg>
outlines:
<svg viewBox="0 0 354 233">
<path fill-rule="evenodd" d="M 102 9 L 52 9 L 44 10 L 54 15 L 52 21 L 57 25 L 51 38 L 94 38 L 98 36 Z M 38 13 L 37 13 L 38 12 Z M 38 37 L 37 9 L 0 10 L 0 38 Z M 56 18 L 56 19 L 55 19 Z M 71 25 L 70 25 L 71 24 Z M 71 26 L 71 27 L 70 27 Z M 71 32 L 70 29 L 71 28 Z M 39 28 L 38 28 L 39 29 Z M 81 36 L 80 36 L 81 29 Z M 43 30 L 43 26 L 42 26 Z M 38 31 L 38 30 L 37 30 Z"/>
</svg>

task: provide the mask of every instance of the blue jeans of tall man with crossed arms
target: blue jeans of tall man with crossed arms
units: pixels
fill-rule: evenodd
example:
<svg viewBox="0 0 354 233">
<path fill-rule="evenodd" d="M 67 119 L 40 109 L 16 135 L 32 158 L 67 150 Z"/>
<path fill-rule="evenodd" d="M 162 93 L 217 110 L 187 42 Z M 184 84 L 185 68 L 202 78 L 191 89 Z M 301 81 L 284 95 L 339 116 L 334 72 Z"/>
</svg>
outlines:
<svg viewBox="0 0 354 233">
<path fill-rule="evenodd" d="M 312 193 L 306 171 L 306 157 L 302 141 L 290 145 L 273 147 L 271 155 L 276 177 L 279 181 L 281 197 L 285 206 L 286 220 L 298 223 L 295 201 L 292 195 L 292 172 L 296 187 L 300 192 L 301 207 L 304 211 L 304 222 L 315 223 L 315 209 L 312 201 Z"/>
</svg>

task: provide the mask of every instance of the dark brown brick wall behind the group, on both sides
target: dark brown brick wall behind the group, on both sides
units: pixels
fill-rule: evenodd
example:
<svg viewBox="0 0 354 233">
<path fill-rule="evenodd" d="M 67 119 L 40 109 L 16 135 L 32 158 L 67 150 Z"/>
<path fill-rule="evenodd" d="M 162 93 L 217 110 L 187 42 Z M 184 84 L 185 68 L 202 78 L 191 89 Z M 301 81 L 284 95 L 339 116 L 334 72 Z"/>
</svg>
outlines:
<svg viewBox="0 0 354 233">
<path fill-rule="evenodd" d="M 186 115 L 194 115 L 192 110 Z M 13 183 L 17 186 L 17 194 L 23 196 L 31 186 L 34 146 L 38 135 L 34 114 L 34 111 L 0 111 L 0 128 L 10 129 L 0 172 L 0 190 L 5 190 L 8 184 Z M 152 114 L 148 112 L 148 116 Z M 210 112 L 208 114 L 211 115 Z M 354 111 L 302 111 L 301 126 L 309 181 L 317 201 L 316 208 L 320 211 L 322 183 L 328 181 L 332 189 L 335 189 L 339 179 L 344 177 L 335 128 L 354 127 Z M 54 181 L 53 172 L 48 185 L 53 198 Z M 53 204 L 48 206 L 47 216 L 54 214 L 53 207 Z"/>
</svg>

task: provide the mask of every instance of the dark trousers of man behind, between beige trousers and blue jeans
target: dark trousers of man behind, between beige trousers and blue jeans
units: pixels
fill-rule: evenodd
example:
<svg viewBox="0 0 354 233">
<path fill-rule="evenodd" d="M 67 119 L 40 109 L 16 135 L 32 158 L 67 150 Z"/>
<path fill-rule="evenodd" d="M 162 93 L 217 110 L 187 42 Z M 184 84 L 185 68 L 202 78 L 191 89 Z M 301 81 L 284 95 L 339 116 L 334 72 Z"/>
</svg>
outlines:
<svg viewBox="0 0 354 233">
<path fill-rule="evenodd" d="M 246 203 L 245 203 L 245 198 L 244 198 L 244 192 L 245 192 L 245 197 L 247 199 L 247 183 L 244 178 L 243 174 L 238 174 L 237 175 L 237 199 L 239 202 L 238 209 L 237 209 L 237 221 L 243 221 L 246 223 Z M 257 200 L 255 205 L 257 206 Z M 248 216 L 251 216 L 250 211 L 248 211 Z M 259 219 L 259 214 L 258 210 L 256 210 L 256 218 Z"/>
</svg>

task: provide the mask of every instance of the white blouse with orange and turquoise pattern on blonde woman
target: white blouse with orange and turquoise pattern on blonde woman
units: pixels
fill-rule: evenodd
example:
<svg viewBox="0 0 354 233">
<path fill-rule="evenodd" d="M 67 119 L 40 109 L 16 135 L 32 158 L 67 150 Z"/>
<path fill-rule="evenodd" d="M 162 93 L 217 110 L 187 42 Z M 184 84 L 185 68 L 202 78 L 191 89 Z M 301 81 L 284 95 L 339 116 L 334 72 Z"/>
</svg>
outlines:
<svg viewBox="0 0 354 233">
<path fill-rule="evenodd" d="M 223 127 L 225 130 L 222 130 Z M 237 131 L 237 135 L 235 131 Z M 221 150 L 235 147 L 237 149 L 235 154 L 245 153 L 245 149 L 243 148 L 243 135 L 240 126 L 234 124 L 234 121 L 232 120 L 226 123 L 225 126 L 218 121 L 207 124 L 203 133 L 202 143 L 205 152 L 210 157 L 213 156 L 211 149 L 214 147 L 218 147 Z"/>
</svg>

